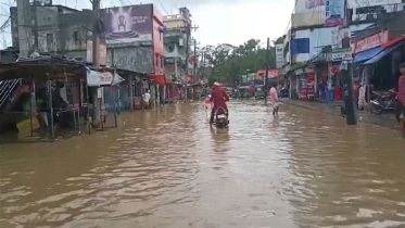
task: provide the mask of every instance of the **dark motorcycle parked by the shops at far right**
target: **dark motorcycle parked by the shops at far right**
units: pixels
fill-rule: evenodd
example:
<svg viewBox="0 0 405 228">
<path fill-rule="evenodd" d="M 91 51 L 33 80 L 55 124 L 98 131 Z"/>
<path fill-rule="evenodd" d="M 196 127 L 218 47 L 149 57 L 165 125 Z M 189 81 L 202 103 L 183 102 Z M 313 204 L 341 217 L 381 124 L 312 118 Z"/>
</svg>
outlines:
<svg viewBox="0 0 405 228">
<path fill-rule="evenodd" d="M 374 106 L 374 113 L 377 115 L 381 115 L 385 111 L 393 111 L 395 110 L 395 102 L 396 102 L 396 92 L 390 90 L 388 92 L 381 91 L 372 91 L 375 96 L 374 99 L 370 100 Z"/>
</svg>

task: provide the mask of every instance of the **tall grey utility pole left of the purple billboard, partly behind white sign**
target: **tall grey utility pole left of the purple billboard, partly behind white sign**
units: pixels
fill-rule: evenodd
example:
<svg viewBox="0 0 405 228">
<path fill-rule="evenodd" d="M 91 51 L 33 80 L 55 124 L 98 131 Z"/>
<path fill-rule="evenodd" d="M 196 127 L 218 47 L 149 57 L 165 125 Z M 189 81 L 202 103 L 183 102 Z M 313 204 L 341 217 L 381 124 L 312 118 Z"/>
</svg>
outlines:
<svg viewBox="0 0 405 228">
<path fill-rule="evenodd" d="M 92 0 L 92 11 L 93 11 L 93 31 L 92 31 L 92 65 L 96 69 L 100 67 L 100 1 L 101 0 Z M 98 98 L 98 89 L 97 87 L 90 88 L 91 97 L 92 97 L 92 104 L 93 104 L 93 112 L 92 112 L 92 119 L 93 126 L 98 127 L 101 122 L 101 106 L 99 106 L 99 98 Z"/>
</svg>

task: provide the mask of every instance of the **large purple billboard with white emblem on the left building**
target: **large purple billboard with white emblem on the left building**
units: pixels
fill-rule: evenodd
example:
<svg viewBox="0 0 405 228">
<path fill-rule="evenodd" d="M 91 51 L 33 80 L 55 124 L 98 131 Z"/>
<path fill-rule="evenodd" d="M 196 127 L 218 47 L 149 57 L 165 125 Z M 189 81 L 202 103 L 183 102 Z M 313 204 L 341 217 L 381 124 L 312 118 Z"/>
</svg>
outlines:
<svg viewBox="0 0 405 228">
<path fill-rule="evenodd" d="M 152 4 L 103 10 L 107 45 L 152 40 Z"/>
</svg>

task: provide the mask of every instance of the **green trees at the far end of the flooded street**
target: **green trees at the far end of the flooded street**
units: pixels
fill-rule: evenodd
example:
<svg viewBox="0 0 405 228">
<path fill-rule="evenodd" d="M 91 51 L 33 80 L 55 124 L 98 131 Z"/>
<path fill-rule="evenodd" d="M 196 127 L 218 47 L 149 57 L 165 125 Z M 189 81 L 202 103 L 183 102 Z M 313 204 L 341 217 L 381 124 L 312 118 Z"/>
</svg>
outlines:
<svg viewBox="0 0 405 228">
<path fill-rule="evenodd" d="M 266 48 L 261 48 L 261 40 L 250 39 L 238 47 L 222 43 L 216 47 L 206 46 L 201 49 L 211 68 L 208 77 L 210 85 L 214 81 L 233 84 L 240 80 L 242 75 L 255 73 L 266 68 Z M 270 47 L 268 53 L 268 65 L 276 65 L 276 50 Z"/>
</svg>

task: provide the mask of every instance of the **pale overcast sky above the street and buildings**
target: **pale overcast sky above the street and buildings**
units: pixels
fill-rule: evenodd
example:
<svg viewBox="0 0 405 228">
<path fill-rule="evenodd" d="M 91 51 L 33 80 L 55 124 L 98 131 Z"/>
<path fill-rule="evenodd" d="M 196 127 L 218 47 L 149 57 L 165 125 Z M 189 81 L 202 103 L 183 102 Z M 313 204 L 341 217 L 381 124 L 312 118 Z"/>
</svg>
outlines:
<svg viewBox="0 0 405 228">
<path fill-rule="evenodd" d="M 1 15 L 5 4 L 14 0 L 0 0 Z M 90 9 L 89 0 L 53 0 L 77 9 Z M 102 0 L 102 8 L 126 4 L 154 3 L 162 14 L 176 14 L 178 8 L 187 7 L 199 26 L 194 37 L 200 45 L 241 45 L 250 38 L 266 41 L 282 36 L 294 8 L 294 0 Z M 1 16 L 0 24 L 5 17 Z M 11 45 L 10 34 L 2 35 L 1 41 Z M 1 46 L 4 48 L 4 43 Z"/>
</svg>

